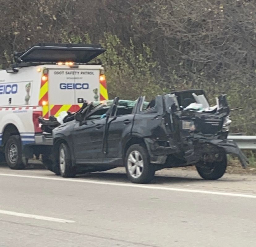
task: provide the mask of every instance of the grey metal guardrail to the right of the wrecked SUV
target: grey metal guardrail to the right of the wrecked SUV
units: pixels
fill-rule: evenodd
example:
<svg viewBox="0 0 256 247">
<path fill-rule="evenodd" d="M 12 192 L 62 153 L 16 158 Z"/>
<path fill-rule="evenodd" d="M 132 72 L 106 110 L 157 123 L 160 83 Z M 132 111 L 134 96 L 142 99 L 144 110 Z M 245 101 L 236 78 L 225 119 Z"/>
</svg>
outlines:
<svg viewBox="0 0 256 247">
<path fill-rule="evenodd" d="M 228 135 L 228 140 L 237 143 L 240 149 L 256 150 L 256 135 Z"/>
</svg>

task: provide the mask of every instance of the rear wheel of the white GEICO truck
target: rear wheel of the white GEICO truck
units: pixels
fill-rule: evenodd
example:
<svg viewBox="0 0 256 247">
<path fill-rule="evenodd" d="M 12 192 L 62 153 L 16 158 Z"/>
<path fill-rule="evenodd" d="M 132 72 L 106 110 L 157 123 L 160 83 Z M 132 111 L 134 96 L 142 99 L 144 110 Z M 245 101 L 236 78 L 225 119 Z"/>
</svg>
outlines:
<svg viewBox="0 0 256 247">
<path fill-rule="evenodd" d="M 19 135 L 12 135 L 5 144 L 5 159 L 11 169 L 24 169 L 26 159 L 22 156 L 22 145 Z M 24 161 L 24 162 L 23 162 Z"/>
</svg>

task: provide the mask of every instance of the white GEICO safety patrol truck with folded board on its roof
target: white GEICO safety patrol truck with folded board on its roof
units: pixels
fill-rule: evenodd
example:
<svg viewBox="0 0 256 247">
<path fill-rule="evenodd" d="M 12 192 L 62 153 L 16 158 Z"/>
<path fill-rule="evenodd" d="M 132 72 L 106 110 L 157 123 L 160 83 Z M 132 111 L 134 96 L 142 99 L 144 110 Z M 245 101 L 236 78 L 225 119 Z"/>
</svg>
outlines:
<svg viewBox="0 0 256 247">
<path fill-rule="evenodd" d="M 108 100 L 105 70 L 89 63 L 105 52 L 101 45 L 37 44 L 15 53 L 0 70 L 0 156 L 12 169 L 50 154 L 52 138 L 39 117 L 79 110 L 83 100 Z"/>
</svg>

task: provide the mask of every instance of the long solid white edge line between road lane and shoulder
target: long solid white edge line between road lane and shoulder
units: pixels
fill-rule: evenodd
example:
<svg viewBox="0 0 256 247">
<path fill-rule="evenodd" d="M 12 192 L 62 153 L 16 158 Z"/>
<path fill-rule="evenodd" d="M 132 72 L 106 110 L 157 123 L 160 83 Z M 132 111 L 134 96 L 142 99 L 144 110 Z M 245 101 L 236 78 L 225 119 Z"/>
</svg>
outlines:
<svg viewBox="0 0 256 247">
<path fill-rule="evenodd" d="M 114 186 L 135 187 L 135 188 L 151 189 L 151 190 L 169 190 L 169 191 L 178 191 L 178 192 L 190 192 L 190 193 L 199 193 L 199 194 L 233 196 L 233 197 L 243 197 L 243 198 L 254 198 L 254 199 L 256 199 L 256 195 L 248 195 L 248 194 L 237 194 L 237 193 L 218 192 L 218 191 L 209 191 L 209 190 L 179 189 L 179 188 L 162 187 L 162 186 L 154 186 L 154 185 L 140 185 L 140 184 L 132 184 L 132 183 L 101 182 L 101 181 L 92 181 L 92 180 L 88 180 L 88 179 L 87 180 L 86 179 L 82 180 L 82 179 L 76 179 L 76 178 L 70 179 L 70 178 L 61 178 L 61 177 L 60 178 L 58 178 L 58 177 L 40 177 L 40 176 L 28 176 L 28 175 L 7 174 L 7 173 L 0 173 L 0 176 L 24 177 L 24 178 L 34 178 L 34 179 L 55 180 L 55 181 L 100 184 L 100 185 L 114 185 Z"/>
</svg>

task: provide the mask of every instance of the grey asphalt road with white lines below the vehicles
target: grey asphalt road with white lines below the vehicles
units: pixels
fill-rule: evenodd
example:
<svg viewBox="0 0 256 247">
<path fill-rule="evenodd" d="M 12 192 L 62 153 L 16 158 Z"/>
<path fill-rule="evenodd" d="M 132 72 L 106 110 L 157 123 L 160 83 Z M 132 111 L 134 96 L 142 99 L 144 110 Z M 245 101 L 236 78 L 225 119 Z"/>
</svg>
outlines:
<svg viewBox="0 0 256 247">
<path fill-rule="evenodd" d="M 134 185 L 123 169 L 62 179 L 1 166 L 0 246 L 255 246 L 255 185 L 182 169 Z"/>
</svg>

